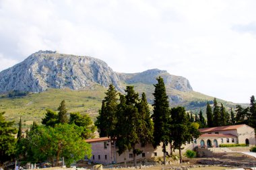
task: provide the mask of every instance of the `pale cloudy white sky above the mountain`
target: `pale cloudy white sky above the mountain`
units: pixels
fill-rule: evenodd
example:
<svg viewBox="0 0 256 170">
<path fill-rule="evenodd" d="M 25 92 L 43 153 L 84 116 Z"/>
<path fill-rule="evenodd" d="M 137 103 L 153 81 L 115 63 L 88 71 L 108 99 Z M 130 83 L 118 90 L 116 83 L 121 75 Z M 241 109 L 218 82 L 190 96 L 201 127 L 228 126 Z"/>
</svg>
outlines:
<svg viewBox="0 0 256 170">
<path fill-rule="evenodd" d="M 254 0 L 0 0 L 0 71 L 38 50 L 166 70 L 236 103 L 256 95 Z"/>
</svg>

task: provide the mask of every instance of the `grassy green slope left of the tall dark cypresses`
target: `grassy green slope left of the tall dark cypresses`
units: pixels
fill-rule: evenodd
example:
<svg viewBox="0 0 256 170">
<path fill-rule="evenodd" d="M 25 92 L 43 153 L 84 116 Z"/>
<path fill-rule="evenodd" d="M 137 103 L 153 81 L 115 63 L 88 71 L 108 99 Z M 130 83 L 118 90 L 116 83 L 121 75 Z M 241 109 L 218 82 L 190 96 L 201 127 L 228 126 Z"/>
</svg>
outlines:
<svg viewBox="0 0 256 170">
<path fill-rule="evenodd" d="M 7 120 L 18 122 L 22 116 L 24 124 L 32 124 L 33 120 L 41 121 L 46 109 L 57 110 L 59 103 L 65 99 L 68 112 L 87 113 L 95 118 L 105 91 L 106 88 L 94 85 L 82 91 L 49 89 L 41 93 L 30 93 L 24 97 L 2 97 L 0 98 L 0 111 L 6 112 Z"/>
</svg>

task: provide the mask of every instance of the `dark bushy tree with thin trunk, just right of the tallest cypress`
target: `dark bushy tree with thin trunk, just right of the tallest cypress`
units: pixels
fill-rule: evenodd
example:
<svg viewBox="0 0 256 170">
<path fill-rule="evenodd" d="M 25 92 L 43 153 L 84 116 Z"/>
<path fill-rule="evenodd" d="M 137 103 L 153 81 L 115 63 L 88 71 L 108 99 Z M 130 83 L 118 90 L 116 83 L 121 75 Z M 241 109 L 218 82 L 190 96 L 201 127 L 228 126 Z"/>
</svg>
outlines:
<svg viewBox="0 0 256 170">
<path fill-rule="evenodd" d="M 174 148 L 179 149 L 180 163 L 182 163 L 181 149 L 182 144 L 193 141 L 193 138 L 198 138 L 200 132 L 197 130 L 198 124 L 187 120 L 186 111 L 183 107 L 172 108 L 170 110 L 172 116 L 172 140 Z M 197 125 L 195 125 L 197 124 Z"/>
</svg>

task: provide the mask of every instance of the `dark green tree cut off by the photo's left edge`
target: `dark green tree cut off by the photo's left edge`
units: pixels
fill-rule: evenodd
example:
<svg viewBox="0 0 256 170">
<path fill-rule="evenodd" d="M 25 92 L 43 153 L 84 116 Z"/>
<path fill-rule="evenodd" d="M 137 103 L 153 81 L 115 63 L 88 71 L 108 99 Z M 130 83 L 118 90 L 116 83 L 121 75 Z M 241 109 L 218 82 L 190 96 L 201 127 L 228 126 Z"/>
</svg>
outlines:
<svg viewBox="0 0 256 170">
<path fill-rule="evenodd" d="M 3 117 L 5 112 L 0 113 L 0 166 L 5 161 L 11 161 L 14 157 L 15 138 L 17 130 L 13 128 L 14 122 L 6 121 Z"/>
</svg>

